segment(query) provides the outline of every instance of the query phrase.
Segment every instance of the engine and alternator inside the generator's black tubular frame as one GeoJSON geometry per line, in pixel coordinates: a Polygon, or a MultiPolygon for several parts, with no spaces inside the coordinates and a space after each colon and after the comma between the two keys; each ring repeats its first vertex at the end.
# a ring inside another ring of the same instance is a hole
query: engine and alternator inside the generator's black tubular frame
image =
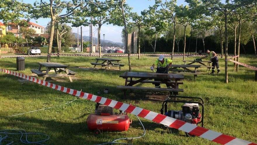
{"type": "Polygon", "coordinates": [[[185,103],[182,106],[182,110],[169,110],[165,115],[195,125],[201,121],[202,117],[199,113],[199,104],[197,103],[185,103]]]}

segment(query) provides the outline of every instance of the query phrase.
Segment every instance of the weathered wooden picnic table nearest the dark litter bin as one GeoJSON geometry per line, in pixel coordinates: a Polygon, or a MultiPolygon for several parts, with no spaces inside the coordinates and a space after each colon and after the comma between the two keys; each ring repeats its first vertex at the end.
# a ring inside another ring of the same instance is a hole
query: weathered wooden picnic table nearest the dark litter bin
{"type": "Polygon", "coordinates": [[[71,76],[74,76],[76,73],[68,70],[68,66],[56,62],[39,62],[38,69],[31,69],[32,73],[37,74],[38,76],[44,77],[43,81],[46,80],[47,77],[60,77],[66,76],[69,78],[70,82],[72,82],[71,76]],[[42,66],[46,67],[46,70],[41,70],[42,66]],[[54,70],[55,74],[48,74],[51,69],[54,70]],[[65,72],[65,74],[60,74],[60,72],[65,72]]]}

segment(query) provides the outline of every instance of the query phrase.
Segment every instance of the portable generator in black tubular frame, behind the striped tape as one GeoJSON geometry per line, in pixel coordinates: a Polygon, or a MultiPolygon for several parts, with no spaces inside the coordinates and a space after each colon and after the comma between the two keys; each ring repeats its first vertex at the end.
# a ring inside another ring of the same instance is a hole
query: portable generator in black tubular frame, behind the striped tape
{"type": "MultiPolygon", "coordinates": [[[[187,97],[187,96],[169,96],[168,100],[165,100],[162,103],[161,114],[166,115],[178,120],[185,121],[190,124],[198,125],[201,123],[201,126],[204,127],[204,101],[202,98],[198,97],[187,97]],[[177,100],[184,99],[184,100],[177,100]],[[185,100],[187,99],[187,100],[185,100]],[[189,101],[190,100],[201,100],[201,102],[189,101]],[[182,106],[182,110],[168,110],[167,103],[175,102],[175,103],[184,103],[182,106]],[[200,112],[200,107],[202,111],[200,112]]],[[[178,132],[178,129],[173,129],[173,132],[178,132]]],[[[192,134],[185,133],[188,137],[193,136],[192,134]]],[[[193,136],[194,137],[194,136],[193,136]]]]}

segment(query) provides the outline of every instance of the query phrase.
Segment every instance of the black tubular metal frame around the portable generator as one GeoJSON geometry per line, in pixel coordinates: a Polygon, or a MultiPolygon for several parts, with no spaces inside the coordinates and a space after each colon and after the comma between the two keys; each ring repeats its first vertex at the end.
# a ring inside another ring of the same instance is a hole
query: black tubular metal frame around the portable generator
{"type": "Polygon", "coordinates": [[[201,121],[198,122],[197,124],[202,124],[201,126],[204,127],[204,100],[199,97],[189,97],[189,96],[169,96],[168,98],[173,98],[174,100],[168,99],[163,101],[162,103],[162,109],[161,109],[161,114],[164,115],[166,112],[168,112],[168,102],[174,102],[174,103],[198,103],[199,105],[202,106],[202,118],[201,121]],[[186,99],[195,99],[195,100],[201,100],[202,103],[200,102],[195,102],[195,101],[186,101],[186,100],[176,100],[177,98],[186,98],[186,99]]]}

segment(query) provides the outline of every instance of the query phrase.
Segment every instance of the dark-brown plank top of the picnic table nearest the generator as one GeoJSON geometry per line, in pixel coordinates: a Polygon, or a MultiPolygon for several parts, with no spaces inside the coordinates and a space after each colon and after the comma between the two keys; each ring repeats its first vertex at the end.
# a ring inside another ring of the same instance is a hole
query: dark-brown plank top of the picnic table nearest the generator
{"type": "Polygon", "coordinates": [[[183,75],[180,74],[158,74],[158,73],[144,73],[144,72],[125,72],[120,75],[122,78],[149,78],[149,79],[169,79],[169,80],[182,80],[183,75]]]}

